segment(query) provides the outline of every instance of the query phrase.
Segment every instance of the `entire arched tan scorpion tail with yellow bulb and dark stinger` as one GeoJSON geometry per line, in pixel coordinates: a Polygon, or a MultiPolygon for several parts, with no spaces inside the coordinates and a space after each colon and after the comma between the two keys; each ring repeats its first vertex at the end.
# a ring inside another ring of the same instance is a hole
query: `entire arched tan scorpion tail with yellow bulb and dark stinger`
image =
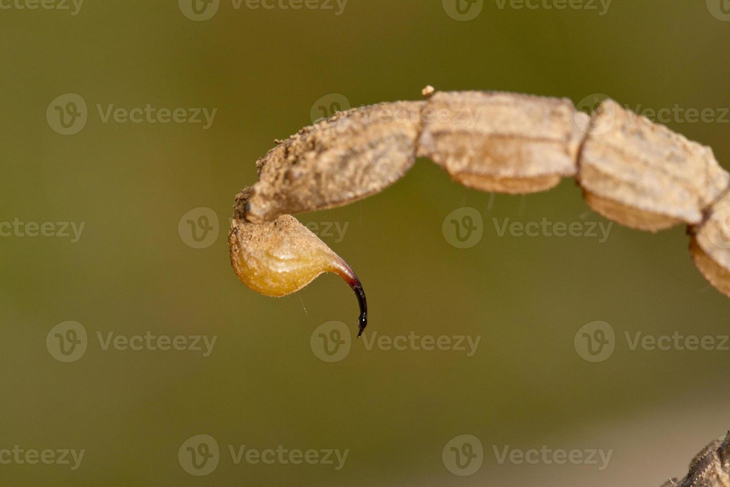
{"type": "Polygon", "coordinates": [[[237,197],[229,234],[244,283],[283,296],[337,272],[364,308],[352,269],[288,215],[371,196],[427,157],[480,191],[534,193],[575,177],[588,205],[613,221],[654,232],[684,223],[696,266],[730,296],[730,174],[710,147],[610,99],[588,115],[568,99],[431,87],[423,94],[426,101],[339,112],[277,141],[258,161],[259,180],[237,197]]]}

